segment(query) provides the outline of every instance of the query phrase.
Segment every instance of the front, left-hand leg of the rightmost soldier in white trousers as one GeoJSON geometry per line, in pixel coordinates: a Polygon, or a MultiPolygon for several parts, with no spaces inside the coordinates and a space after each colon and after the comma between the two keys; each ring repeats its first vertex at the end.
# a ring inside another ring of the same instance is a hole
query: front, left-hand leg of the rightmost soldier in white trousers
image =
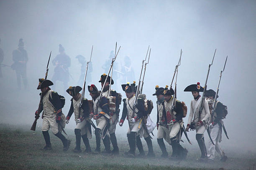
{"type": "MultiPolygon", "coordinates": [[[[218,137],[218,133],[219,133],[219,127],[217,127],[217,125],[213,126],[212,129],[210,129],[210,134],[212,137],[212,141],[216,144],[217,143],[217,137],[218,137]]],[[[208,140],[208,145],[207,145],[207,156],[209,159],[214,160],[215,158],[215,146],[213,145],[211,140],[208,140]]]]}

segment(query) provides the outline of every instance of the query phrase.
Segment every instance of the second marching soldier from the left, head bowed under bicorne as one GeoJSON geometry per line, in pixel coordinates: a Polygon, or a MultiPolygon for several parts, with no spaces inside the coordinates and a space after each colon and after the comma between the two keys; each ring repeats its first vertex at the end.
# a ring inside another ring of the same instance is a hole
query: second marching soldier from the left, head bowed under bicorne
{"type": "Polygon", "coordinates": [[[86,147],[86,150],[84,152],[90,153],[91,148],[90,148],[90,143],[89,139],[92,138],[92,129],[90,123],[87,121],[89,118],[89,105],[88,105],[88,100],[86,98],[83,99],[82,101],[82,108],[80,111],[79,115],[79,104],[81,100],[81,93],[79,93],[82,90],[82,87],[76,86],[72,87],[70,86],[66,91],[71,95],[73,98],[71,99],[71,106],[69,109],[69,113],[66,118],[66,123],[69,123],[69,119],[72,116],[74,112],[74,118],[76,121],[76,128],[74,129],[74,133],[76,135],[76,148],[74,148],[74,152],[80,153],[81,152],[81,136],[84,141],[84,145],[86,147]]]}

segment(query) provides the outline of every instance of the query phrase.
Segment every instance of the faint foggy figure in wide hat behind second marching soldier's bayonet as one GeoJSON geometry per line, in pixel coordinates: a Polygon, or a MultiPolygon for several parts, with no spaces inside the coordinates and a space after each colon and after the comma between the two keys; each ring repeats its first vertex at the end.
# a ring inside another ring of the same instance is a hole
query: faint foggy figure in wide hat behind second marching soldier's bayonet
{"type": "MultiPolygon", "coordinates": [[[[82,87],[82,85],[84,84],[84,76],[85,76],[87,61],[85,60],[85,57],[82,55],[77,55],[76,58],[78,62],[81,64],[81,75],[79,77],[77,84],[82,87]]],[[[88,85],[91,84],[92,82],[91,72],[92,72],[92,63],[90,62],[90,64],[88,65],[87,75],[86,75],[86,82],[88,85]]]]}

